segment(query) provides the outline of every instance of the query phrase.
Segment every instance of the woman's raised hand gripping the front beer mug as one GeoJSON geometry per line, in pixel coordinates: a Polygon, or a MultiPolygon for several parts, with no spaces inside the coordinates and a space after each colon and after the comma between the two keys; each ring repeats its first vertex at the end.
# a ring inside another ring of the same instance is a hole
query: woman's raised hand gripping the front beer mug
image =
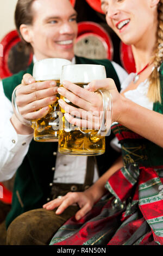
{"type": "Polygon", "coordinates": [[[65,109],[65,117],[69,123],[79,127],[99,129],[99,119],[103,111],[103,102],[101,95],[97,93],[98,89],[104,89],[110,92],[113,105],[112,122],[118,121],[123,97],[118,93],[114,80],[106,78],[104,80],[92,81],[85,88],[64,81],[63,86],[58,88],[58,93],[79,107],[70,106],[64,100],[59,100],[59,105],[65,109]],[[76,115],[76,117],[82,119],[74,118],[72,115],[76,115]]]}

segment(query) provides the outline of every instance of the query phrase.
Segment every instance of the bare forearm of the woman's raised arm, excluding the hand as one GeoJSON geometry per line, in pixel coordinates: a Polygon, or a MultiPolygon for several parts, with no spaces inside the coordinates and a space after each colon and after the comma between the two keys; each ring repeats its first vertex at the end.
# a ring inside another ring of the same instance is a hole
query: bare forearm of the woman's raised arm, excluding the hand
{"type": "Polygon", "coordinates": [[[163,148],[163,115],[122,99],[117,122],[163,148]]]}

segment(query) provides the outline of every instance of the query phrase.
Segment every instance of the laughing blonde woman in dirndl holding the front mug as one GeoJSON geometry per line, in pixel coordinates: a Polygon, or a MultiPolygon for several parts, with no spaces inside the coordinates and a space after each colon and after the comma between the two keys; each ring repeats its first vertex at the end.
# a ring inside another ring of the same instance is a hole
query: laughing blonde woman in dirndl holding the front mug
{"type": "MultiPolygon", "coordinates": [[[[91,111],[96,120],[93,112],[101,106],[97,106],[99,96],[93,92],[109,90],[112,121],[117,122],[112,131],[121,144],[122,157],[85,192],[69,193],[43,206],[51,210],[59,206],[57,214],[74,203],[80,207],[55,234],[51,245],[163,245],[163,65],[159,48],[163,42],[163,1],[102,0],[102,9],[108,25],[131,45],[137,73],[124,81],[121,95],[109,79],[93,81],[87,93],[65,81],[58,92],[78,102],[80,112],[91,111]]],[[[60,106],[65,108],[66,103],[60,100],[60,106]]],[[[70,114],[74,110],[71,108],[70,114]]],[[[70,114],[66,118],[73,124],[91,122],[70,114]]]]}

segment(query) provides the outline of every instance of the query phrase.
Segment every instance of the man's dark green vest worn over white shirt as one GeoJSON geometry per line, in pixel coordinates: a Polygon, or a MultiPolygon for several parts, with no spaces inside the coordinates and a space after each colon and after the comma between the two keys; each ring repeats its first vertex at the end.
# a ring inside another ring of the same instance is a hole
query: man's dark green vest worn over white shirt
{"type": "MultiPolygon", "coordinates": [[[[107,59],[93,60],[76,57],[77,64],[104,65],[107,77],[114,79],[120,91],[120,81],[111,62],[107,59]]],[[[21,83],[24,74],[33,72],[33,63],[26,71],[3,80],[4,93],[11,101],[12,92],[21,83]]],[[[110,147],[113,135],[106,137],[106,152],[97,156],[99,175],[102,175],[116,160],[119,155],[110,147]]],[[[12,197],[12,208],[6,220],[7,227],[14,218],[28,210],[42,208],[42,205],[50,198],[51,184],[54,177],[54,168],[58,143],[38,143],[34,140],[30,143],[28,154],[24,157],[21,166],[17,169],[15,185],[12,197]]]]}

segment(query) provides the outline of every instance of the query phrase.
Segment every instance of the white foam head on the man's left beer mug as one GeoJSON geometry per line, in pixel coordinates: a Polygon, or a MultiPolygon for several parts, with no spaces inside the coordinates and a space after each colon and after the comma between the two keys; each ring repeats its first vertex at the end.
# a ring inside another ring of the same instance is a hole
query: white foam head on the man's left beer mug
{"type": "Polygon", "coordinates": [[[41,59],[34,64],[35,81],[60,80],[62,66],[71,65],[70,60],[59,58],[41,59]]]}

